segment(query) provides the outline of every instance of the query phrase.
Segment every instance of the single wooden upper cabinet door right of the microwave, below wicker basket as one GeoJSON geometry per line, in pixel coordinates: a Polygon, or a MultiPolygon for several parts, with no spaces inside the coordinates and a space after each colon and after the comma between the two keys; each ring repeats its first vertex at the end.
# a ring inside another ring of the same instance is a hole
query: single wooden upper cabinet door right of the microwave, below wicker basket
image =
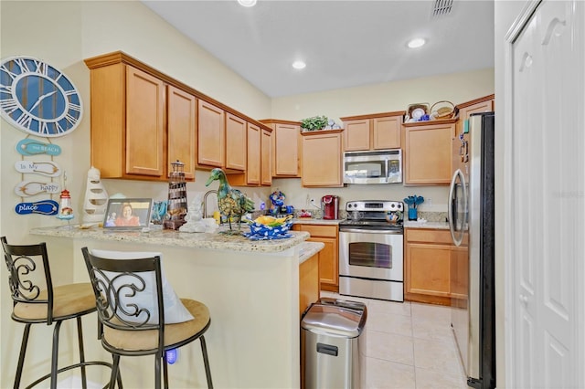
{"type": "Polygon", "coordinates": [[[405,184],[450,184],[454,124],[405,129],[405,184]]]}

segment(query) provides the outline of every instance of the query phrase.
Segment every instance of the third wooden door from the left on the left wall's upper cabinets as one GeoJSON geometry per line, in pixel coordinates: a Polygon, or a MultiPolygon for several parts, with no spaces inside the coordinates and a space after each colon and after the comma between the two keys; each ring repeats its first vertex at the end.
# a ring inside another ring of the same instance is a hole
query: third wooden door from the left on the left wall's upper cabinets
{"type": "Polygon", "coordinates": [[[197,163],[224,167],[225,113],[224,110],[199,100],[197,120],[197,163]]]}

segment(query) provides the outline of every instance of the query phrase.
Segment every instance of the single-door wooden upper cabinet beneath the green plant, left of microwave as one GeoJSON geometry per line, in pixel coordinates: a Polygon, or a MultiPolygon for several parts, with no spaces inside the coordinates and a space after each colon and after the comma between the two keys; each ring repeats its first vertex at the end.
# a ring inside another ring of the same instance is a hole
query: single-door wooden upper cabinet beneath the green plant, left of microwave
{"type": "Polygon", "coordinates": [[[301,132],[303,186],[343,186],[343,130],[301,132]]]}

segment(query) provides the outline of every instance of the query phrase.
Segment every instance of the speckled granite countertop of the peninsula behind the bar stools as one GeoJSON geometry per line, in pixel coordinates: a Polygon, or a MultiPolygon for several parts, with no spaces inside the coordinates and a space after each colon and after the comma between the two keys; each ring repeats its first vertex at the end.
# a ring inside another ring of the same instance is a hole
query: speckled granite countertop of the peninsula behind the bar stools
{"type": "MultiPolygon", "coordinates": [[[[242,228],[243,229],[243,228],[242,228]]],[[[174,230],[104,231],[101,227],[80,228],[80,226],[39,227],[30,234],[45,237],[69,237],[106,241],[148,243],[163,246],[210,248],[231,251],[278,252],[303,243],[308,232],[290,231],[292,237],[272,240],[250,240],[247,237],[220,233],[186,233],[174,230]]],[[[317,250],[318,251],[318,250],[317,250]]]]}

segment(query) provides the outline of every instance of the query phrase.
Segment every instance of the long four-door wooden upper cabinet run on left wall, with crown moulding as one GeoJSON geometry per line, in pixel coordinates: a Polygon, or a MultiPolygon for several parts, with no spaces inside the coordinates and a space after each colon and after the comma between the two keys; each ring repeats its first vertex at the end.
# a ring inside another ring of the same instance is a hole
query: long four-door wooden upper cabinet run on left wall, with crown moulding
{"type": "Polygon", "coordinates": [[[102,178],[166,181],[170,163],[195,169],[247,166],[248,125],[263,125],[122,51],[90,68],[91,164],[102,178]]]}

